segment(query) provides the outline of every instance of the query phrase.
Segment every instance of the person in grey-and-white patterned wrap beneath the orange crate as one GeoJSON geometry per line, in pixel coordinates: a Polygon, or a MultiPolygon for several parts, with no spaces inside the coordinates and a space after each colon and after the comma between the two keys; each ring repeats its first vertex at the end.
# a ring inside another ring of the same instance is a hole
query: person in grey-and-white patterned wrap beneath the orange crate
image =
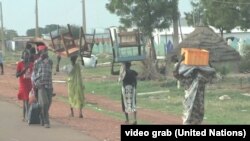
{"type": "Polygon", "coordinates": [[[185,89],[183,124],[197,125],[201,124],[204,118],[205,87],[215,75],[215,69],[209,65],[185,65],[181,63],[184,59],[185,54],[176,63],[173,75],[185,89]]]}

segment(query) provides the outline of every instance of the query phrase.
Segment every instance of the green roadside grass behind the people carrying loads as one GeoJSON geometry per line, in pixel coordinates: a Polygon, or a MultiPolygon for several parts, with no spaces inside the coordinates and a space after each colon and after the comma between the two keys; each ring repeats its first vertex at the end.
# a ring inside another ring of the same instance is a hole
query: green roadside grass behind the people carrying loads
{"type": "MultiPolygon", "coordinates": [[[[109,77],[109,75],[107,75],[109,77]]],[[[182,116],[184,98],[183,88],[177,89],[176,81],[138,81],[137,106],[173,115],[182,116]],[[159,93],[150,94],[149,92],[159,93]],[[162,91],[162,92],[161,92],[162,91]],[[140,93],[149,93],[139,95],[140,93]]],[[[120,86],[114,79],[86,82],[86,92],[109,97],[120,101],[120,86]]],[[[250,96],[242,95],[250,91],[249,81],[243,88],[239,78],[227,78],[223,81],[208,84],[205,93],[206,124],[250,124],[250,96]],[[220,100],[223,95],[230,99],[220,100]]]]}

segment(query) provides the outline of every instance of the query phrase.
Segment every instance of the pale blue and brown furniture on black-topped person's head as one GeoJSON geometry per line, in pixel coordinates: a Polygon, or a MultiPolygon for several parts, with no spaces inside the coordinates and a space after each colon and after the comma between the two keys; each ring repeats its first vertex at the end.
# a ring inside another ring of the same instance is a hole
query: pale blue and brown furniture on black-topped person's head
{"type": "Polygon", "coordinates": [[[146,58],[145,44],[138,30],[116,32],[110,29],[113,62],[143,61],[146,58]]]}

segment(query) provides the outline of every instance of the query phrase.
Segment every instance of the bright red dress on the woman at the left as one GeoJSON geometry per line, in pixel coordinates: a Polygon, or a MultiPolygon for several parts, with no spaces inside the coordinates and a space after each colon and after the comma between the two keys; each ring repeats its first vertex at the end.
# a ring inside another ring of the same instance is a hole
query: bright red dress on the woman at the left
{"type": "MultiPolygon", "coordinates": [[[[25,69],[25,64],[23,61],[20,61],[17,63],[17,72],[21,72],[25,69]]],[[[28,100],[29,99],[29,92],[32,89],[32,83],[31,83],[31,74],[33,71],[33,63],[29,64],[29,68],[26,70],[26,72],[19,76],[19,90],[17,97],[19,100],[28,100]]]]}

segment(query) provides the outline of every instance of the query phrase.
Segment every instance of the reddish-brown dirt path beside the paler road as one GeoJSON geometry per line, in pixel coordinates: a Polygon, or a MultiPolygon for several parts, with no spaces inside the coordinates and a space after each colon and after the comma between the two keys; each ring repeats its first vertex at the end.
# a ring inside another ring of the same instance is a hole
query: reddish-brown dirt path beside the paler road
{"type": "MultiPolygon", "coordinates": [[[[15,77],[15,67],[15,64],[5,66],[5,74],[0,75],[0,96],[6,101],[14,102],[21,106],[21,102],[17,101],[16,97],[18,80],[15,77]]],[[[63,84],[54,83],[54,91],[57,96],[67,96],[67,88],[63,84]]],[[[106,97],[86,94],[86,100],[88,103],[95,103],[100,107],[105,107],[105,109],[109,111],[121,112],[120,102],[112,101],[106,97]]],[[[122,120],[112,118],[101,112],[91,110],[90,108],[86,108],[83,111],[83,119],[77,117],[78,111],[75,111],[76,117],[69,117],[69,106],[56,97],[53,99],[50,116],[56,121],[79,129],[84,134],[95,137],[101,141],[120,141],[120,125],[123,124],[122,120]]],[[[181,117],[142,108],[138,108],[138,119],[149,121],[152,124],[181,123],[181,117]]],[[[53,130],[53,123],[51,123],[51,126],[53,130]]]]}

